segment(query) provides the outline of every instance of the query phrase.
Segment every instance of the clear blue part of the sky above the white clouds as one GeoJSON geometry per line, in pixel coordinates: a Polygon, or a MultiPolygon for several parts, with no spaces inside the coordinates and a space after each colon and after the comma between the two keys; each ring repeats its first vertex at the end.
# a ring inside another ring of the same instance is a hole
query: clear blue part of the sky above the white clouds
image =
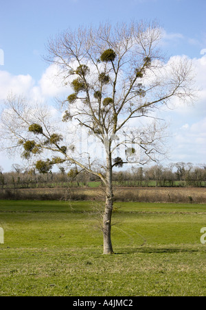
{"type": "MultiPolygon", "coordinates": [[[[157,19],[172,34],[185,40],[168,47],[172,54],[196,57],[206,47],[205,0],[7,0],[0,4],[0,48],[3,69],[13,74],[40,78],[46,64],[41,59],[45,43],[67,27],[108,19],[112,23],[131,19],[157,19]],[[188,43],[194,40],[194,44],[188,43]],[[196,44],[195,44],[196,43],[196,44]]],[[[177,38],[178,39],[178,38],[177,38]]]]}

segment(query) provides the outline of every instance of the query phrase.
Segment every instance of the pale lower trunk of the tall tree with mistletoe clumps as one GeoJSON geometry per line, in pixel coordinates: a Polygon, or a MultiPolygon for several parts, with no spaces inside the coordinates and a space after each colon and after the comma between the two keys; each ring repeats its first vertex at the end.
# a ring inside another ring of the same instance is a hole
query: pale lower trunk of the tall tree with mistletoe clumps
{"type": "Polygon", "coordinates": [[[111,217],[113,213],[113,168],[111,154],[106,160],[106,204],[103,217],[104,254],[113,254],[111,217]]]}

